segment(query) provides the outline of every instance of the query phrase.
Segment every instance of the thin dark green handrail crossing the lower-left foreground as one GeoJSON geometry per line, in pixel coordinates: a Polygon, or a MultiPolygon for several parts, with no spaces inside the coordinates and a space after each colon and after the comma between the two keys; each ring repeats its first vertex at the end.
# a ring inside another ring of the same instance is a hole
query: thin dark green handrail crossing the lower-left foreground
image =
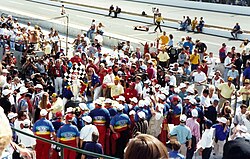
{"type": "Polygon", "coordinates": [[[46,142],[46,143],[50,143],[50,144],[53,144],[53,145],[56,145],[56,146],[61,147],[61,159],[63,159],[63,157],[64,157],[64,156],[63,156],[63,149],[64,149],[64,148],[67,148],[67,149],[76,151],[76,152],[81,153],[81,154],[85,154],[85,155],[89,155],[89,156],[94,156],[94,157],[98,157],[98,158],[104,158],[104,159],[117,159],[117,158],[115,158],[115,157],[111,157],[111,156],[107,156],[107,155],[102,155],[102,154],[98,154],[98,153],[94,153],[94,152],[90,152],[90,151],[78,149],[78,148],[75,148],[75,147],[72,147],[72,146],[68,146],[68,145],[65,145],[65,144],[61,144],[61,143],[58,143],[58,142],[55,142],[55,141],[51,141],[51,140],[42,138],[42,137],[39,137],[39,136],[31,135],[31,134],[28,134],[28,133],[23,132],[23,131],[21,131],[21,130],[15,129],[15,128],[11,128],[11,129],[12,129],[13,131],[16,131],[16,132],[18,132],[18,133],[21,133],[21,134],[23,134],[23,135],[26,135],[26,136],[29,136],[29,137],[32,137],[32,138],[35,138],[35,139],[44,141],[44,142],[46,142]]]}

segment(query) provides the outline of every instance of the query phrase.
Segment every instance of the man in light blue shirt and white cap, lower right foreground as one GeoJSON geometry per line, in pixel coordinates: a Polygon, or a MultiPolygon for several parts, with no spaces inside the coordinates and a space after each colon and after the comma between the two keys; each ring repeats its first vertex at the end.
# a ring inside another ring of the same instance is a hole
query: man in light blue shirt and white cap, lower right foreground
{"type": "Polygon", "coordinates": [[[186,156],[187,154],[187,149],[191,149],[191,145],[192,145],[192,133],[189,127],[187,127],[185,125],[187,120],[187,116],[182,114],[180,117],[180,124],[176,127],[174,127],[174,129],[170,132],[171,136],[175,136],[177,135],[177,140],[180,142],[181,144],[181,148],[180,148],[180,153],[183,156],[186,156]],[[186,146],[186,142],[188,142],[187,146],[186,146]]]}

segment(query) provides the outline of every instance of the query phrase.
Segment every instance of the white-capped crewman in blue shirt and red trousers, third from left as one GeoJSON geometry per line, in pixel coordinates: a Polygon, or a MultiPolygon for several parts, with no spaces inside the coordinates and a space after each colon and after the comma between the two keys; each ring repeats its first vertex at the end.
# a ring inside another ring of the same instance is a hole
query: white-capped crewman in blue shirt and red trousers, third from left
{"type": "Polygon", "coordinates": [[[110,114],[106,108],[102,107],[102,101],[97,99],[94,101],[95,109],[91,110],[89,116],[93,119],[93,124],[97,127],[100,138],[99,143],[105,150],[105,136],[107,127],[110,123],[110,114]]]}

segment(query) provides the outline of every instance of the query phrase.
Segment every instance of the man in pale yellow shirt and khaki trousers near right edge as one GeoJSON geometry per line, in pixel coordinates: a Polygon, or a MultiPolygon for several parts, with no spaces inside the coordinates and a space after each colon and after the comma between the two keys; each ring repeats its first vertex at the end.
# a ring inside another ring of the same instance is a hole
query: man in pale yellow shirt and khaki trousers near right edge
{"type": "Polygon", "coordinates": [[[222,104],[228,100],[231,103],[231,97],[235,92],[235,86],[232,83],[233,78],[229,77],[228,82],[222,83],[218,86],[218,95],[220,98],[219,105],[218,105],[218,112],[220,112],[220,108],[222,104]]]}

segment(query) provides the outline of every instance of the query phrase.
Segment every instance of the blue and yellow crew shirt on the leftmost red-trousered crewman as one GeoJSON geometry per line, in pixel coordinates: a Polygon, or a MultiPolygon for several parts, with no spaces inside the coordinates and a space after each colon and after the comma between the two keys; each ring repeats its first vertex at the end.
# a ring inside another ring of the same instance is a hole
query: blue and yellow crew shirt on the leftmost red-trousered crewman
{"type": "Polygon", "coordinates": [[[41,118],[35,122],[32,131],[36,135],[50,135],[50,133],[55,132],[55,129],[51,121],[41,118]]]}

